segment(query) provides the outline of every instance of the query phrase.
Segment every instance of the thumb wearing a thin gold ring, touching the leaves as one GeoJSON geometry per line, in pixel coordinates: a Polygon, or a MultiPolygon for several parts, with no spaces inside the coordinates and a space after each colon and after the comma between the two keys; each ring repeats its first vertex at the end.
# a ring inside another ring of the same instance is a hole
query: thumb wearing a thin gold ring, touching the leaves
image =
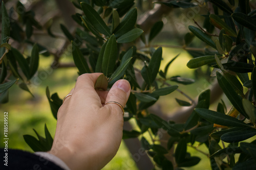
{"type": "MultiPolygon", "coordinates": [[[[117,102],[119,103],[123,108],[126,105],[126,102],[129,98],[131,92],[131,86],[130,83],[127,80],[118,80],[110,89],[108,95],[106,96],[105,104],[108,102],[117,102]]],[[[106,107],[113,107],[115,110],[121,110],[121,108],[114,103],[111,103],[109,105],[105,105],[106,107]]]]}

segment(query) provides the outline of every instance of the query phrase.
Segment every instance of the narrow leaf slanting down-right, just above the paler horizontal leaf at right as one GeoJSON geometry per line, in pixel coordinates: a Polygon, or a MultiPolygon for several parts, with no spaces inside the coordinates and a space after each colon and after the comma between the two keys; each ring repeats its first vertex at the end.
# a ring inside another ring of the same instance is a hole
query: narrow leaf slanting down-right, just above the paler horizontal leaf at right
{"type": "Polygon", "coordinates": [[[204,41],[205,43],[207,43],[208,45],[210,45],[211,47],[216,48],[216,45],[214,43],[214,41],[211,40],[210,36],[205,34],[203,31],[201,31],[200,29],[194,27],[194,26],[188,26],[188,29],[195,35],[197,36],[199,39],[201,39],[202,41],[204,41]]]}

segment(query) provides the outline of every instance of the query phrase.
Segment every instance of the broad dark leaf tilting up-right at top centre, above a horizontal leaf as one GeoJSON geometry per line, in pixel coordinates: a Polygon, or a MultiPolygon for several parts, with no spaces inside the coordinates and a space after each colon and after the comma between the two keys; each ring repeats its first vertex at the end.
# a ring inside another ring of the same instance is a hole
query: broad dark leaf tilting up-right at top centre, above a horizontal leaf
{"type": "MultiPolygon", "coordinates": [[[[119,14],[120,15],[120,14],[119,14]]],[[[124,16],[123,20],[120,22],[118,27],[115,29],[114,34],[116,37],[120,37],[121,35],[127,33],[132,30],[137,21],[137,9],[134,8],[127,12],[124,16]]]]}

